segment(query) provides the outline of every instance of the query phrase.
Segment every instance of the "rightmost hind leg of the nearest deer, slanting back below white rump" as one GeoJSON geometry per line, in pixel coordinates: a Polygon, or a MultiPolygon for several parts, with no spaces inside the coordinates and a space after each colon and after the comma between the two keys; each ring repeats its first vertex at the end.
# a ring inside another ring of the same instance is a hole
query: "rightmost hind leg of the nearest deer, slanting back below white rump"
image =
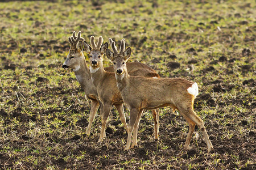
{"type": "MultiPolygon", "coordinates": [[[[178,108],[179,109],[179,108],[178,108]]],[[[210,142],[210,139],[208,137],[207,131],[205,130],[204,122],[201,120],[199,116],[196,115],[196,113],[193,111],[191,107],[187,109],[179,109],[181,113],[184,113],[185,116],[190,118],[195,124],[199,127],[201,132],[203,133],[204,140],[207,143],[207,150],[208,152],[213,148],[212,143],[210,142]]]]}

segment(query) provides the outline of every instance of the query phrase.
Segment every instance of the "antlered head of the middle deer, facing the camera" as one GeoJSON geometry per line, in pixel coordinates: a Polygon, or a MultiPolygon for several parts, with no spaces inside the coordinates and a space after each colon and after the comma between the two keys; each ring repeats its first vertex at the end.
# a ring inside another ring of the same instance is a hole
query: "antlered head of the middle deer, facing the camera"
{"type": "Polygon", "coordinates": [[[90,68],[92,67],[93,70],[103,66],[102,57],[104,56],[106,49],[108,49],[108,42],[105,42],[103,45],[102,43],[102,36],[98,37],[97,45],[95,44],[94,36],[90,37],[90,45],[84,41],[84,49],[89,54],[90,68]]]}

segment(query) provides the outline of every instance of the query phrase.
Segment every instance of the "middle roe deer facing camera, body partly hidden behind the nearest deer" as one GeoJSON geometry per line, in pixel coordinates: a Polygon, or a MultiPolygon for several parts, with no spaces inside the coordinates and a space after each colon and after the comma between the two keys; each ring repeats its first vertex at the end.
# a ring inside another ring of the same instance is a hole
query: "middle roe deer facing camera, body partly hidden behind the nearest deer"
{"type": "MultiPolygon", "coordinates": [[[[112,105],[118,109],[121,121],[128,132],[128,126],[126,124],[126,118],[123,114],[123,100],[122,96],[117,88],[117,83],[115,80],[115,74],[113,72],[108,72],[104,70],[103,67],[103,56],[105,54],[105,50],[108,49],[108,42],[103,44],[103,38],[100,36],[98,38],[97,46],[94,42],[94,36],[90,37],[91,46],[84,41],[84,49],[89,54],[90,57],[90,74],[92,76],[92,82],[96,87],[98,92],[98,101],[102,104],[103,113],[101,115],[101,135],[98,142],[101,142],[104,137],[104,131],[106,122],[109,117],[110,109],[112,105]],[[102,45],[102,46],[101,46],[102,45]]],[[[121,47],[122,48],[122,47],[121,47]]],[[[155,70],[150,67],[139,63],[134,62],[130,63],[131,68],[129,69],[129,74],[131,75],[140,75],[147,77],[155,77],[159,78],[159,75],[155,72],[155,70]],[[136,69],[137,68],[137,69],[136,69]],[[132,70],[132,71],[131,71],[132,70]]],[[[155,139],[158,139],[158,117],[159,117],[159,109],[157,111],[152,111],[154,115],[155,122],[155,139]]]]}

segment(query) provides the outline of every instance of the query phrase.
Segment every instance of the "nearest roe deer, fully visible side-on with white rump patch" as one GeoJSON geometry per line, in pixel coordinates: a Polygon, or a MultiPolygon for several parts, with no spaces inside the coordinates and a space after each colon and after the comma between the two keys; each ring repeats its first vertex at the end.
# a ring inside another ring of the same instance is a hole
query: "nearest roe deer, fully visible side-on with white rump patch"
{"type": "Polygon", "coordinates": [[[106,49],[106,56],[114,64],[114,73],[118,89],[121,91],[123,101],[130,109],[129,131],[125,150],[130,148],[131,134],[134,130],[133,145],[137,145],[138,125],[141,120],[143,109],[156,109],[170,106],[174,111],[177,109],[187,120],[189,125],[188,136],[184,147],[189,148],[195,125],[199,127],[207,143],[208,152],[213,148],[209,140],[204,122],[193,111],[195,97],[199,94],[197,83],[183,78],[145,78],[131,76],[127,73],[126,62],[131,55],[131,48],[125,50],[125,41],[121,41],[123,47],[118,53],[106,49]]]}

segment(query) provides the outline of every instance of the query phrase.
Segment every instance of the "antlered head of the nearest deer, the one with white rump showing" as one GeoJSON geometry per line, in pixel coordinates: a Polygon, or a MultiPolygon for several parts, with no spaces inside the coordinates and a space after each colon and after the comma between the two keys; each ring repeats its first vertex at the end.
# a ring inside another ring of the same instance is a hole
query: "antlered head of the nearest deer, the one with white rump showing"
{"type": "Polygon", "coordinates": [[[126,62],[131,56],[131,48],[128,47],[125,50],[125,39],[122,39],[121,41],[119,52],[117,51],[115,42],[112,39],[109,39],[109,44],[111,44],[113,52],[110,49],[106,49],[106,56],[113,63],[115,74],[122,75],[127,71],[126,62]]]}

